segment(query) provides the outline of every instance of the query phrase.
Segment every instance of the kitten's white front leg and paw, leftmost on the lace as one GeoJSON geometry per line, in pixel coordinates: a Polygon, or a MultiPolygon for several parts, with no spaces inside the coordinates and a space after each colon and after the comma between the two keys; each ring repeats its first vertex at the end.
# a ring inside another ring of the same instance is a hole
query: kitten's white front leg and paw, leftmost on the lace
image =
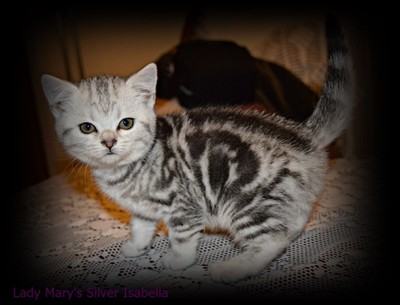
{"type": "Polygon", "coordinates": [[[147,252],[153,240],[157,223],[137,216],[131,219],[131,239],[122,246],[125,257],[136,257],[147,252]]]}

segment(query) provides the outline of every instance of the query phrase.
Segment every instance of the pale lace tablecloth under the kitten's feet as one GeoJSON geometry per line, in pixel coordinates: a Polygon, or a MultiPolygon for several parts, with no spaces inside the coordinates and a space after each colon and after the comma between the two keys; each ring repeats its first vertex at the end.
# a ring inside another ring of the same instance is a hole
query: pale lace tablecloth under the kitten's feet
{"type": "Polygon", "coordinates": [[[225,236],[205,235],[196,264],[184,271],[160,262],[169,249],[163,227],[150,252],[125,258],[120,249],[130,234],[129,214],[102,197],[85,170],[21,194],[26,213],[18,225],[26,237],[16,255],[24,257],[35,287],[162,289],[170,298],[350,292],[379,268],[372,259],[377,237],[369,213],[381,194],[372,183],[377,171],[372,161],[335,161],[303,234],[261,274],[232,284],[215,283],[208,275],[209,264],[240,253],[225,236]]]}

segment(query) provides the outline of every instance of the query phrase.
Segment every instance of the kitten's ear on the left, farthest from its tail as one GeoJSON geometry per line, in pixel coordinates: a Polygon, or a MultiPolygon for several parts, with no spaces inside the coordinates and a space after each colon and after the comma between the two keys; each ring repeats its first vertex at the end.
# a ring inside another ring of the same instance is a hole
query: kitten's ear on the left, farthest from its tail
{"type": "Polygon", "coordinates": [[[65,111],[65,103],[68,103],[78,92],[74,84],[48,74],[42,76],[42,87],[50,110],[56,118],[65,111]]]}

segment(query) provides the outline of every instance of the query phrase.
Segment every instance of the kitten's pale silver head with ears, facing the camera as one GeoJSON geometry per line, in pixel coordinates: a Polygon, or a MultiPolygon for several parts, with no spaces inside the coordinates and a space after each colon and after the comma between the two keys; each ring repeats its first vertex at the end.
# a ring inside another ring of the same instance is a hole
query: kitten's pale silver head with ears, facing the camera
{"type": "Polygon", "coordinates": [[[50,75],[42,86],[66,150],[93,167],[143,158],[151,148],[157,70],[149,64],[128,79],[100,76],[74,85],[50,75]]]}

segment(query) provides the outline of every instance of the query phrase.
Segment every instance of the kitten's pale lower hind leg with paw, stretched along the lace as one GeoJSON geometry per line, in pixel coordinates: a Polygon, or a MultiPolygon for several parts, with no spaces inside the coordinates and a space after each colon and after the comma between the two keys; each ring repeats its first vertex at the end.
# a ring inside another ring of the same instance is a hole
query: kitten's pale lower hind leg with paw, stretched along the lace
{"type": "Polygon", "coordinates": [[[278,257],[288,244],[287,237],[265,234],[257,243],[248,244],[244,253],[211,265],[210,276],[216,282],[229,283],[257,275],[278,257]]]}

